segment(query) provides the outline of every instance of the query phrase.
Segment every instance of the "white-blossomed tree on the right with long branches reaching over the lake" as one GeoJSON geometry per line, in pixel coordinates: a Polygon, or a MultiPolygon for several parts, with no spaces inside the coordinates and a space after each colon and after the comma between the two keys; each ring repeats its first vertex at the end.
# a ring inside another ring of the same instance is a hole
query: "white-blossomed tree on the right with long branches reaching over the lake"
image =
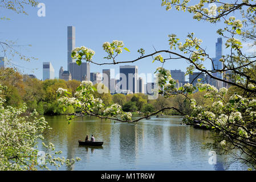
{"type": "MultiPolygon", "coordinates": [[[[95,52],[86,47],[75,48],[72,51],[72,57],[78,64],[85,60],[87,63],[96,65],[134,63],[146,57],[153,57],[153,62],[160,61],[163,63],[163,67],[156,69],[156,73],[159,76],[159,93],[165,97],[182,95],[190,102],[192,113],[185,115],[175,107],[165,107],[156,113],[149,113],[143,118],[157,114],[165,109],[177,110],[184,115],[186,123],[197,120],[201,122],[201,125],[215,129],[214,131],[219,134],[216,138],[216,144],[222,150],[230,151],[235,149],[234,156],[237,159],[241,159],[246,164],[256,168],[256,80],[254,69],[256,67],[256,56],[255,51],[246,53],[243,49],[243,42],[246,42],[250,48],[255,46],[256,43],[256,5],[254,0],[235,0],[230,2],[198,0],[197,2],[194,5],[190,0],[162,0],[162,6],[165,6],[166,10],[174,8],[177,11],[191,13],[193,18],[198,21],[205,20],[209,23],[223,21],[225,23],[225,27],[220,28],[217,34],[225,40],[226,49],[230,53],[221,57],[220,61],[223,64],[221,69],[214,65],[213,59],[201,46],[202,40],[196,38],[193,32],[188,34],[184,42],[181,42],[175,34],[169,35],[170,47],[168,50],[155,50],[155,52],[145,55],[145,50],[140,48],[137,51],[139,57],[135,60],[117,60],[117,56],[123,49],[129,51],[127,48],[123,48],[123,42],[118,40],[114,40],[112,43],[103,43],[103,49],[107,53],[104,58],[111,60],[106,63],[94,61],[95,52]],[[240,19],[230,16],[233,12],[239,14],[240,19]],[[168,53],[168,57],[165,55],[166,53],[168,53]],[[242,94],[233,93],[231,97],[227,97],[228,90],[226,88],[218,90],[212,85],[201,83],[200,79],[197,80],[196,86],[185,84],[180,88],[176,88],[176,81],[172,78],[170,72],[164,68],[164,63],[173,59],[184,59],[188,62],[187,75],[193,74],[195,70],[200,71],[212,78],[212,80],[224,82],[241,90],[242,94]],[[205,63],[209,61],[213,69],[205,68],[205,63]],[[229,74],[224,75],[227,72],[229,74]],[[216,73],[223,75],[223,78],[216,76],[216,73]],[[191,93],[197,90],[199,92],[205,91],[205,98],[212,100],[212,104],[208,106],[197,105],[196,100],[189,97],[191,93]]],[[[79,86],[76,98],[70,98],[67,90],[58,90],[58,93],[64,96],[60,99],[63,104],[74,104],[88,115],[125,122],[137,122],[143,119],[132,121],[131,114],[124,113],[119,105],[105,108],[100,100],[92,97],[92,92],[96,92],[96,88],[90,82],[83,82],[79,86]],[[95,112],[96,108],[97,112],[95,112]]]]}

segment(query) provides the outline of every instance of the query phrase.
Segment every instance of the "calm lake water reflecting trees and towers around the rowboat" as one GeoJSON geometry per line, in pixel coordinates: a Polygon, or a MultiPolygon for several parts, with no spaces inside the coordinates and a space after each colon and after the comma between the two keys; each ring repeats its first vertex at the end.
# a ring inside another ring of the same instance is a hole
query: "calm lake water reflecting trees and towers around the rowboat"
{"type": "MultiPolygon", "coordinates": [[[[79,157],[72,168],[60,170],[240,170],[239,163],[225,164],[217,155],[217,164],[209,164],[210,131],[180,125],[182,118],[151,118],[135,123],[78,118],[70,125],[65,116],[46,116],[52,130],[46,142],[55,144],[66,158],[79,157]],[[78,140],[94,135],[103,147],[79,146],[78,140]]],[[[54,168],[51,168],[54,169],[54,168]]]]}

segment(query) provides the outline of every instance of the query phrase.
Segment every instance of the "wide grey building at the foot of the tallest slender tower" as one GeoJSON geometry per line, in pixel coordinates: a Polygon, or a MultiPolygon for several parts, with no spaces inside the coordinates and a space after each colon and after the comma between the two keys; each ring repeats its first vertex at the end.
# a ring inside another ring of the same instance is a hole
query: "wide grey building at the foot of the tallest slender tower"
{"type": "Polygon", "coordinates": [[[76,63],[70,63],[70,73],[72,80],[83,81],[83,77],[85,77],[86,80],[91,80],[89,63],[82,63],[80,65],[76,63]]]}

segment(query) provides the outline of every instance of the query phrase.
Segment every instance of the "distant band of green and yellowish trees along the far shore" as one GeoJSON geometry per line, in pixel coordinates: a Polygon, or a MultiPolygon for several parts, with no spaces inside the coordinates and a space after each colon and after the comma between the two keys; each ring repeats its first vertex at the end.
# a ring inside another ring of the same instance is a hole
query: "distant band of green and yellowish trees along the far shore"
{"type": "MultiPolygon", "coordinates": [[[[0,70],[0,84],[8,87],[4,96],[6,105],[20,107],[25,102],[28,111],[36,109],[39,114],[59,115],[79,112],[77,108],[72,106],[64,111],[63,106],[59,105],[56,90],[58,88],[67,89],[74,96],[80,83],[76,80],[64,81],[58,79],[40,81],[36,78],[27,78],[23,81],[23,76],[14,68],[1,68],[0,70]]],[[[97,85],[95,86],[97,87],[97,85]]],[[[197,104],[200,105],[211,104],[212,101],[206,100],[204,94],[204,92],[197,92],[192,94],[192,98],[195,98],[197,104]]],[[[116,103],[121,105],[124,111],[129,112],[153,112],[164,107],[174,106],[183,113],[190,113],[189,101],[181,95],[172,98],[159,96],[156,100],[148,100],[148,96],[141,93],[128,94],[127,96],[115,94],[112,96],[110,93],[99,94],[95,92],[94,96],[101,98],[106,106],[116,103]]],[[[177,115],[179,113],[174,110],[165,110],[164,114],[177,115]]]]}

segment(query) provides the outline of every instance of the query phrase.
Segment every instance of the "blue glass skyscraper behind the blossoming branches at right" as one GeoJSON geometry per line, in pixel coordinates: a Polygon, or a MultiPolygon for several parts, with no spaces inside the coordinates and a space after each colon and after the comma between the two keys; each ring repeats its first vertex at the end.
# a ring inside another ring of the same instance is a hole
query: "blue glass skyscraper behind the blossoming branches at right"
{"type": "MultiPolygon", "coordinates": [[[[222,69],[223,68],[223,63],[220,61],[221,57],[222,57],[222,38],[218,38],[217,39],[217,43],[216,43],[216,55],[214,58],[212,58],[213,60],[213,65],[212,65],[212,70],[214,69],[222,69]]],[[[214,77],[217,78],[222,78],[222,75],[220,72],[214,72],[212,73],[212,75],[214,77]]],[[[213,80],[212,79],[212,83],[213,86],[215,86],[217,89],[220,89],[223,86],[223,82],[218,81],[218,80],[213,80]]]]}

